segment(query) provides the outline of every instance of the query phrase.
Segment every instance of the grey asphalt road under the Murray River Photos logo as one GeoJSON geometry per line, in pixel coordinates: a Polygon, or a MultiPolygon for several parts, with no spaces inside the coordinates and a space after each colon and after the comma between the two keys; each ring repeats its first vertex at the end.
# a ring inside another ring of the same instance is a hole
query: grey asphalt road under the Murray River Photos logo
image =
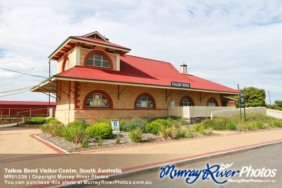
{"type": "MultiPolygon", "coordinates": [[[[163,187],[282,187],[282,144],[275,145],[273,147],[267,147],[257,150],[252,150],[246,153],[241,153],[237,155],[221,157],[216,159],[211,159],[208,161],[198,162],[190,165],[185,166],[176,166],[175,170],[205,170],[207,168],[207,164],[211,168],[213,165],[221,166],[223,164],[231,164],[229,168],[225,170],[220,170],[219,172],[228,172],[231,170],[233,171],[240,171],[241,176],[239,176],[239,172],[235,173],[233,177],[229,175],[228,177],[215,177],[215,180],[218,182],[224,182],[227,180],[226,183],[218,184],[211,178],[211,175],[203,180],[203,171],[199,175],[199,177],[195,180],[194,183],[188,184],[186,183],[186,177],[175,177],[171,179],[169,174],[164,176],[162,179],[159,178],[160,172],[145,174],[142,176],[135,176],[128,179],[119,180],[121,184],[104,184],[104,185],[97,185],[95,187],[154,187],[154,188],[163,188],[163,187]],[[250,168],[251,166],[251,168],[250,168]],[[277,171],[275,171],[275,169],[277,171]],[[245,172],[246,171],[246,172],[245,172]],[[249,172],[250,171],[250,172],[249,172]],[[249,175],[248,175],[249,172],[249,175]],[[253,175],[251,177],[251,173],[253,175]],[[262,172],[262,174],[260,174],[262,172]],[[275,175],[275,176],[274,176],[275,175]],[[257,176],[257,177],[255,177],[257,176]],[[262,176],[262,177],[261,177],[262,176]],[[268,176],[268,177],[264,177],[268,176]],[[273,176],[273,177],[271,177],[273,176]],[[229,181],[245,181],[245,182],[229,182],[229,181]],[[152,182],[152,184],[129,184],[134,183],[136,181],[148,181],[152,182]],[[274,181],[274,182],[261,182],[261,181],[274,181]],[[128,184],[127,184],[128,183],[128,184]]],[[[166,165],[164,165],[165,167],[166,165]]],[[[211,171],[216,170],[216,166],[210,169],[211,171]]],[[[195,177],[191,176],[189,182],[193,181],[195,177]]]]}

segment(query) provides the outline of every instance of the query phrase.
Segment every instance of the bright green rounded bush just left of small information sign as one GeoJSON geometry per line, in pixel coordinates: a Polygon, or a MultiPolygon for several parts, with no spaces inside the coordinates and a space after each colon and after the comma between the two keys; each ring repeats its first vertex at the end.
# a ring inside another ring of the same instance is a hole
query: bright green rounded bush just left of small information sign
{"type": "Polygon", "coordinates": [[[92,138],[111,138],[113,136],[112,127],[107,123],[95,123],[86,129],[87,135],[92,138]]]}

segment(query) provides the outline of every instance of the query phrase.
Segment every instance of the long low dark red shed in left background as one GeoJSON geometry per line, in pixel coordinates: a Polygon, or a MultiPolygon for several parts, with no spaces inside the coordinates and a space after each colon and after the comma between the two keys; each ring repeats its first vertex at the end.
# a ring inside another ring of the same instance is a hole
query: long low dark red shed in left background
{"type": "MultiPolygon", "coordinates": [[[[0,101],[0,113],[2,116],[17,115],[47,115],[49,102],[35,102],[35,101],[0,101]],[[38,110],[42,109],[42,110],[38,110]],[[28,112],[24,112],[28,111],[28,112]]],[[[56,107],[56,102],[50,102],[50,108],[56,107]]]]}

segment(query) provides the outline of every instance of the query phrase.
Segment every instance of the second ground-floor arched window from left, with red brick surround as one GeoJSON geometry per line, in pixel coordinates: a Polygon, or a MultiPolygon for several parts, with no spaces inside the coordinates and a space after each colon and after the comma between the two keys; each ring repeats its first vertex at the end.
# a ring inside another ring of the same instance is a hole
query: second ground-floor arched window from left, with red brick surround
{"type": "Polygon", "coordinates": [[[156,109],[156,102],[152,95],[148,93],[142,93],[137,96],[135,103],[135,109],[142,109],[142,108],[152,108],[156,109]]]}

